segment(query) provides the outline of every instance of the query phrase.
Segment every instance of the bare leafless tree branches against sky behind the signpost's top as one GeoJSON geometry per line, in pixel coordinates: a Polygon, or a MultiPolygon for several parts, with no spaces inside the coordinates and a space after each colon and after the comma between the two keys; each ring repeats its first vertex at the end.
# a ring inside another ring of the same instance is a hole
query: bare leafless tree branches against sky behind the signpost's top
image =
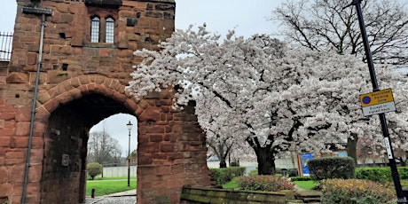
{"type": "MultiPolygon", "coordinates": [[[[272,12],[281,35],[314,51],[357,55],[365,51],[352,0],[288,1],[272,12]]],[[[376,63],[408,64],[407,5],[391,0],[361,1],[368,40],[376,63]]]]}

